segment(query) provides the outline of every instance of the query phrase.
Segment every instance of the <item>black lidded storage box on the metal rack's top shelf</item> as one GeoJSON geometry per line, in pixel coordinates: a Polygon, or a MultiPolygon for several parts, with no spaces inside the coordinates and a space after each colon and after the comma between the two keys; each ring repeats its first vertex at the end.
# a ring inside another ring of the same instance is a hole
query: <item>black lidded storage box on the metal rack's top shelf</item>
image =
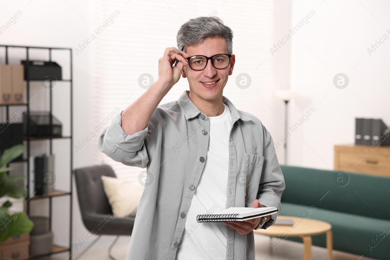
{"type": "Polygon", "coordinates": [[[62,80],[62,70],[56,62],[22,60],[25,80],[62,80]]]}

